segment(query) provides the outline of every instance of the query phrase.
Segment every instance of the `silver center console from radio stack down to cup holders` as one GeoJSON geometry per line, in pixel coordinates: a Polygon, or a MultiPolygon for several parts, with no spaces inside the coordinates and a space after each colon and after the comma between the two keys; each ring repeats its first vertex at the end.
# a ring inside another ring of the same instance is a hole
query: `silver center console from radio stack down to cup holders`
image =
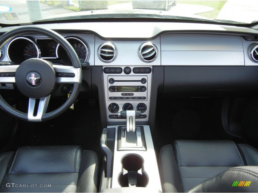
{"type": "Polygon", "coordinates": [[[100,192],[162,192],[148,124],[151,66],[103,68],[107,128],[100,192]]]}

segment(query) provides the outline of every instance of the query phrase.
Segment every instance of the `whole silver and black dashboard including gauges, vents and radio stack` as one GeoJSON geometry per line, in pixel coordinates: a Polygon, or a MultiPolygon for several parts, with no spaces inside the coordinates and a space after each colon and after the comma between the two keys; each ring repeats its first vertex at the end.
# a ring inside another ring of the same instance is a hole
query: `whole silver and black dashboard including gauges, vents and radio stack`
{"type": "MultiPolygon", "coordinates": [[[[150,121],[157,91],[170,96],[192,93],[193,97],[221,91],[254,91],[258,85],[255,29],[169,22],[38,26],[60,33],[75,49],[82,66],[92,69],[91,74],[84,71],[83,80],[90,87],[98,87],[105,107],[103,122],[124,121],[117,115],[121,110],[139,110],[142,115],[137,119],[150,121]],[[93,74],[97,67],[101,72],[93,74]],[[97,83],[95,76],[100,78],[97,83]]],[[[13,28],[2,28],[0,32],[13,28]]],[[[69,55],[56,41],[40,34],[16,37],[1,53],[2,65],[19,64],[34,57],[72,65],[69,55]]],[[[13,89],[13,85],[4,84],[0,89],[13,89]]]]}

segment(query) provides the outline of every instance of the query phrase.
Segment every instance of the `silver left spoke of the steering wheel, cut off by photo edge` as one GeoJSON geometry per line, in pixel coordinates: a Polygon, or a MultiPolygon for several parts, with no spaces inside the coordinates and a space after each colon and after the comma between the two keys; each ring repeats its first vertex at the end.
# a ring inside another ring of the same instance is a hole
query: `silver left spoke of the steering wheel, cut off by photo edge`
{"type": "Polygon", "coordinates": [[[15,72],[19,65],[0,66],[0,83],[15,83],[15,72]]]}

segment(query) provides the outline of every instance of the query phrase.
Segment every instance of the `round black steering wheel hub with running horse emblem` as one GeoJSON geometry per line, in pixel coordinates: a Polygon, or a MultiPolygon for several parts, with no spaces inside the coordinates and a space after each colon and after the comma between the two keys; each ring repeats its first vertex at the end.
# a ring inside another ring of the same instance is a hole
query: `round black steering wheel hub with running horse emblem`
{"type": "Polygon", "coordinates": [[[19,91],[33,99],[41,99],[53,92],[56,73],[53,64],[41,58],[30,58],[22,62],[15,73],[19,91]]]}

